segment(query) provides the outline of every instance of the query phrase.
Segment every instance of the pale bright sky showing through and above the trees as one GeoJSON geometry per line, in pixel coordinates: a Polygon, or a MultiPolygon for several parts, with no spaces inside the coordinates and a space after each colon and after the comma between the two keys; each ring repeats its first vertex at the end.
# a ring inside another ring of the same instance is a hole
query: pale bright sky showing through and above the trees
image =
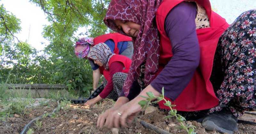
{"type": "MultiPolygon", "coordinates": [[[[256,0],[210,0],[217,13],[231,24],[236,17],[247,10],[256,9],[256,0]]],[[[0,0],[6,11],[12,12],[21,21],[21,32],[15,34],[20,41],[26,41],[37,50],[43,50],[49,42],[43,38],[44,25],[50,25],[44,11],[29,0],[0,0]],[[43,44],[41,42],[44,42],[43,44]]],[[[79,32],[85,28],[79,29],[79,32]]],[[[17,41],[16,41],[17,42],[17,41]]]]}

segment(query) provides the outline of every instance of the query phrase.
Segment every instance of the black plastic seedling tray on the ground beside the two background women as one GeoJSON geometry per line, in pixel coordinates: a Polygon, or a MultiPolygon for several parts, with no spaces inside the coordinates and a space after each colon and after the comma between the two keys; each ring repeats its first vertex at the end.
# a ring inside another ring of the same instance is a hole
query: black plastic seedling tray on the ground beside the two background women
{"type": "Polygon", "coordinates": [[[103,89],[104,89],[104,86],[102,84],[89,97],[79,97],[78,99],[67,99],[67,100],[70,100],[71,103],[82,104],[82,103],[85,103],[87,100],[91,100],[97,97],[102,92],[103,89]]]}

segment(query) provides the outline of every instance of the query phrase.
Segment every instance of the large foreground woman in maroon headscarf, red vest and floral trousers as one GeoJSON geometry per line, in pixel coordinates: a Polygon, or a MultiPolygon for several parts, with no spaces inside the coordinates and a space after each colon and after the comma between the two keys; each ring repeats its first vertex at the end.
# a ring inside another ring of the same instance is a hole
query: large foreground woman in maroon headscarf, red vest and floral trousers
{"type": "MultiPolygon", "coordinates": [[[[187,119],[237,131],[237,117],[256,110],[255,16],[244,12],[229,26],[209,0],[111,0],[104,22],[133,38],[134,54],[123,92],[97,125],[126,126],[141,110],[140,95],[164,87],[187,119]]],[[[163,101],[158,107],[168,110],[163,101]]]]}

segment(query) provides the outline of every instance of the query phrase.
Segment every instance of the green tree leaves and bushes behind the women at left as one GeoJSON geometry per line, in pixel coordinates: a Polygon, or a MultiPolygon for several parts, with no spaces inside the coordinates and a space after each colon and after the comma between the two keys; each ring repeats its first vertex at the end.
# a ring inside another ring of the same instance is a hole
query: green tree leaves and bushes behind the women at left
{"type": "MultiPolygon", "coordinates": [[[[30,0],[41,7],[50,25],[44,26],[43,37],[50,43],[37,51],[25,41],[13,43],[20,31],[20,19],[0,7],[0,83],[63,84],[89,96],[92,69],[74,53],[74,33],[78,28],[91,27],[81,36],[96,37],[108,32],[103,18],[110,0],[30,0]],[[9,75],[9,81],[7,77],[9,75]]],[[[17,38],[16,38],[17,39],[17,38]]]]}

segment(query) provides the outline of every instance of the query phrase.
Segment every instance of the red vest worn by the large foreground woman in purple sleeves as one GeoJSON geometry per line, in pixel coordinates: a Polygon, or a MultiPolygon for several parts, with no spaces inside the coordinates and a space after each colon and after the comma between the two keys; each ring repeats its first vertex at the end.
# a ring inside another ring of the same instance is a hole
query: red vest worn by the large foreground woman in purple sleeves
{"type": "MultiPolygon", "coordinates": [[[[156,23],[160,33],[161,42],[159,64],[167,64],[173,56],[170,40],[164,30],[164,20],[168,12],[183,1],[185,0],[164,0],[156,12],[156,23]]],[[[172,104],[176,105],[174,108],[179,111],[204,110],[212,108],[219,103],[209,79],[212,72],[213,58],[218,40],[220,35],[229,26],[225,19],[211,10],[209,0],[193,1],[205,8],[208,18],[210,19],[210,27],[196,30],[200,46],[200,63],[187,87],[175,101],[172,101],[172,104]]],[[[158,73],[161,72],[163,68],[164,66],[159,66],[158,73]]],[[[167,97],[165,98],[170,100],[167,97]]],[[[159,102],[159,107],[169,109],[164,106],[163,102],[164,101],[159,102]]]]}

